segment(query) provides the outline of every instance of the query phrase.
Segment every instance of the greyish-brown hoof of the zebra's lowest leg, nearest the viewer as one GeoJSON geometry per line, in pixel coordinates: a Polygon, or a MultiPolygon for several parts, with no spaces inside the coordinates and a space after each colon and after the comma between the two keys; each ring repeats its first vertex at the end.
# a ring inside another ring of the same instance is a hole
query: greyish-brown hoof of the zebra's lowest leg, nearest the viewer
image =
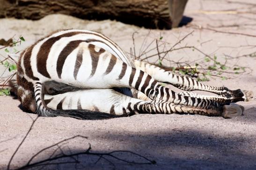
{"type": "Polygon", "coordinates": [[[235,116],[241,116],[242,115],[242,109],[240,106],[230,106],[230,105],[224,105],[223,106],[223,113],[222,116],[224,118],[232,118],[235,116]]]}

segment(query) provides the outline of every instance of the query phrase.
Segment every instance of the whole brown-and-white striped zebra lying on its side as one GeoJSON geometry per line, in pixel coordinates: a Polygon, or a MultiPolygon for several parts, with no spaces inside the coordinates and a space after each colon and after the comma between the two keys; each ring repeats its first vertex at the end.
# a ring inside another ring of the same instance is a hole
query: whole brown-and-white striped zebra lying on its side
{"type": "Polygon", "coordinates": [[[133,60],[116,43],[87,30],[62,30],[37,41],[20,55],[12,82],[22,106],[39,116],[104,119],[137,113],[241,116],[253,93],[212,87],[186,76],[133,60]],[[165,82],[186,91],[175,93],[165,82]]]}

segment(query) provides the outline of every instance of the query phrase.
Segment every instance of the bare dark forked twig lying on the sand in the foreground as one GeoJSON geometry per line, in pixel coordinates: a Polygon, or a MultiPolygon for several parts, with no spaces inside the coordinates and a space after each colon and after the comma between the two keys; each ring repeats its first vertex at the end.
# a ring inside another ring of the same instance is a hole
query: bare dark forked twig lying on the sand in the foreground
{"type": "MultiPolygon", "coordinates": [[[[7,165],[7,170],[10,170],[10,165],[13,161],[13,158],[14,156],[16,155],[16,153],[18,152],[18,150],[20,149],[20,147],[22,146],[22,144],[24,143],[25,139],[28,137],[29,133],[31,132],[35,122],[37,121],[38,119],[38,116],[36,119],[33,120],[28,132],[26,133],[26,135],[23,137],[22,139],[22,142],[19,143],[18,147],[15,149],[15,152],[13,153],[13,155],[11,156],[9,162],[8,162],[8,165],[7,165]]],[[[25,170],[25,169],[30,169],[30,168],[35,168],[35,167],[45,167],[45,166],[49,166],[49,165],[59,165],[59,164],[66,164],[66,163],[80,163],[78,157],[75,158],[74,156],[81,156],[81,155],[93,155],[93,156],[98,156],[99,159],[95,162],[99,162],[100,159],[104,159],[106,161],[108,161],[109,163],[111,163],[112,165],[114,165],[114,163],[112,163],[108,157],[111,157],[111,158],[114,158],[116,160],[119,160],[119,161],[122,161],[122,162],[125,162],[125,163],[132,163],[132,164],[155,164],[156,162],[154,160],[150,160],[148,158],[146,158],[145,156],[142,156],[142,155],[139,155],[137,153],[134,153],[132,151],[128,151],[128,150],[115,150],[115,151],[111,151],[111,152],[106,152],[106,153],[102,153],[102,152],[91,152],[91,145],[89,144],[89,147],[84,150],[84,151],[81,151],[81,152],[76,152],[76,153],[65,153],[64,150],[61,148],[61,146],[59,146],[60,144],[63,144],[65,142],[69,142],[71,141],[72,139],[75,139],[75,138],[82,138],[82,139],[88,139],[86,136],[80,136],[80,135],[77,135],[77,136],[73,136],[73,137],[70,137],[70,138],[67,138],[67,139],[64,139],[58,143],[55,143],[55,144],[52,144],[51,146],[48,146],[40,151],[38,151],[36,154],[34,154],[33,156],[31,156],[31,158],[28,160],[28,162],[19,167],[19,168],[16,168],[14,170],[25,170]],[[48,158],[45,158],[43,160],[40,160],[40,161],[36,161],[36,162],[33,162],[34,158],[36,156],[39,156],[39,154],[43,153],[44,151],[46,150],[50,150],[50,149],[53,149],[54,147],[57,147],[56,150],[54,150],[52,152],[52,154],[48,157],[48,158]],[[60,154],[57,154],[55,155],[55,153],[57,152],[57,150],[60,150],[60,154]],[[118,154],[118,153],[129,153],[129,154],[132,154],[133,156],[138,156],[139,158],[143,159],[144,162],[138,162],[138,161],[129,161],[127,159],[123,159],[123,158],[120,158],[118,156],[115,156],[115,154],[118,154]],[[73,161],[65,161],[65,162],[54,162],[52,163],[52,161],[58,161],[58,160],[63,160],[63,158],[71,158],[73,159],[73,161]],[[33,162],[33,163],[32,163],[33,162]]]]}

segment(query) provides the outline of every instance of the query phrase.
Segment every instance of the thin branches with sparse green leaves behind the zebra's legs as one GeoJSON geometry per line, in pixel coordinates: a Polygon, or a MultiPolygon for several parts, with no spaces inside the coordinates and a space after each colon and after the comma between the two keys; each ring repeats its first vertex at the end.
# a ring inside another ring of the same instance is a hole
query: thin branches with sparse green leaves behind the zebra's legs
{"type": "MultiPolygon", "coordinates": [[[[183,36],[183,38],[177,39],[176,43],[172,46],[170,46],[171,43],[163,41],[162,36],[160,36],[159,39],[153,39],[152,41],[149,41],[148,45],[146,46],[146,41],[149,39],[148,38],[149,33],[148,33],[144,38],[144,41],[139,49],[139,53],[135,52],[136,43],[135,43],[135,37],[133,34],[132,35],[133,48],[130,48],[130,51],[131,51],[130,55],[132,55],[132,58],[135,58],[136,60],[147,61],[147,62],[148,62],[148,59],[157,58],[155,62],[150,62],[150,64],[163,68],[166,71],[173,71],[173,72],[178,71],[177,72],[178,74],[195,77],[197,78],[198,81],[209,81],[210,77],[219,77],[222,80],[225,80],[229,78],[227,75],[231,75],[231,74],[237,75],[237,74],[246,72],[245,67],[241,67],[238,65],[229,66],[226,55],[225,55],[225,61],[223,62],[223,59],[217,60],[217,56],[215,54],[213,56],[210,54],[206,54],[202,50],[198,49],[196,46],[188,46],[186,44],[184,46],[176,47],[178,44],[181,44],[183,41],[185,41],[186,38],[188,38],[192,34],[193,34],[193,31],[183,36]],[[155,46],[153,43],[154,41],[156,42],[155,46]],[[170,47],[166,49],[167,46],[170,46],[170,47]],[[174,59],[174,60],[170,59],[169,54],[171,54],[174,51],[178,51],[182,49],[192,49],[192,51],[197,51],[198,53],[202,54],[203,57],[195,61],[186,61],[186,62],[180,62],[181,59],[179,59],[178,61],[177,59],[174,59]],[[136,54],[138,55],[136,56],[136,54]],[[170,65],[172,65],[172,67],[169,68],[164,66],[163,63],[165,63],[165,61],[168,61],[170,65]],[[222,75],[222,74],[225,74],[225,75],[222,75]]],[[[206,41],[203,43],[207,43],[207,42],[209,41],[206,41]]]]}

